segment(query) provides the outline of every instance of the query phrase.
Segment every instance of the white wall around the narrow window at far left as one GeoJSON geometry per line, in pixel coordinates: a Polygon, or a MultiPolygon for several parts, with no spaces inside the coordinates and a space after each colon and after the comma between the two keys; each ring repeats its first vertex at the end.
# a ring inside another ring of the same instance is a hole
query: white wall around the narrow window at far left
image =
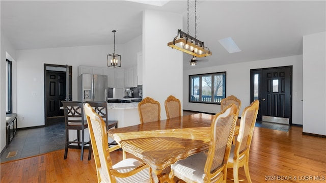
{"type": "MultiPolygon", "coordinates": [[[[2,32],[0,34],[0,148],[6,147],[6,58],[10,58],[13,62],[13,72],[16,70],[16,49],[10,43],[6,35],[2,32]]],[[[16,112],[16,77],[13,75],[13,112],[16,112]]]]}

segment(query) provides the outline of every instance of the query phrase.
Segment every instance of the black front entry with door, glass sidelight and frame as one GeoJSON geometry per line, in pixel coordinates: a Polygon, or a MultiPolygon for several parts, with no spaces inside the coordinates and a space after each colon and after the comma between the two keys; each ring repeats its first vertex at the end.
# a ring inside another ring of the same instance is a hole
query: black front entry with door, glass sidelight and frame
{"type": "Polygon", "coordinates": [[[257,120],[292,125],[292,66],[250,70],[250,100],[259,100],[257,120]]]}

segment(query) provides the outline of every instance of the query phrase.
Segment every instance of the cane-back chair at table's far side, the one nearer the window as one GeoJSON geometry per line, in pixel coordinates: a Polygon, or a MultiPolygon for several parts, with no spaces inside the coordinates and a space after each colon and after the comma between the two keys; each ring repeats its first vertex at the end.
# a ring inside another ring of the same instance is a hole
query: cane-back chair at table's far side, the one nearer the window
{"type": "Polygon", "coordinates": [[[181,116],[181,102],[179,99],[170,95],[164,102],[167,118],[181,116]]]}

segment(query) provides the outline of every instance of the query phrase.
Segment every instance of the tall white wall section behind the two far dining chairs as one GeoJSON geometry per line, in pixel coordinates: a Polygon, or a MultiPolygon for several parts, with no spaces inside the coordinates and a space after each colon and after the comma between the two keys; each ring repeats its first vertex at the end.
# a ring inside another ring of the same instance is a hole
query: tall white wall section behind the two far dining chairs
{"type": "Polygon", "coordinates": [[[167,118],[164,102],[169,95],[182,103],[182,52],[168,47],[181,27],[181,14],[143,12],[143,98],[160,103],[161,119],[167,118]]]}

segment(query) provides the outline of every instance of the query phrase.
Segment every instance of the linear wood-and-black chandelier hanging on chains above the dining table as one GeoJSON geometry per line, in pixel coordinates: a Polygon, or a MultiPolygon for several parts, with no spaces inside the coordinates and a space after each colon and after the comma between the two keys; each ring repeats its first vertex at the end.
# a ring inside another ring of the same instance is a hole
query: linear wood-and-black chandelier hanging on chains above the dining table
{"type": "Polygon", "coordinates": [[[168,46],[196,57],[209,56],[212,52],[204,46],[204,42],[197,39],[197,0],[195,1],[195,37],[189,35],[189,0],[187,5],[188,32],[184,33],[178,29],[178,35],[168,43],[168,46]]]}

